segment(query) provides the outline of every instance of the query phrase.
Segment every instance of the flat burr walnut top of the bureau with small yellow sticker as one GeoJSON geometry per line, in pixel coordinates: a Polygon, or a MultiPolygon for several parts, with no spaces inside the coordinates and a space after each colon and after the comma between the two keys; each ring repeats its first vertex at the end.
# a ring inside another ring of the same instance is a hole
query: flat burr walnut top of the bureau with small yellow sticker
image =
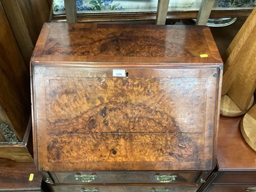
{"type": "Polygon", "coordinates": [[[216,65],[220,54],[206,26],[44,24],[35,63],[216,65]]]}

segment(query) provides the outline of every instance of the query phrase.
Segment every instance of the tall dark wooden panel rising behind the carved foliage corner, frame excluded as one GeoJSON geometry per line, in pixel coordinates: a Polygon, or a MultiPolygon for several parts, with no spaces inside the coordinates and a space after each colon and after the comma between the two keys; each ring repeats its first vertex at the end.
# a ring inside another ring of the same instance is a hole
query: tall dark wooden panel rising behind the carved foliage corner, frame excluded
{"type": "Polygon", "coordinates": [[[0,123],[8,124],[22,141],[30,116],[29,71],[1,2],[0,28],[0,123]]]}

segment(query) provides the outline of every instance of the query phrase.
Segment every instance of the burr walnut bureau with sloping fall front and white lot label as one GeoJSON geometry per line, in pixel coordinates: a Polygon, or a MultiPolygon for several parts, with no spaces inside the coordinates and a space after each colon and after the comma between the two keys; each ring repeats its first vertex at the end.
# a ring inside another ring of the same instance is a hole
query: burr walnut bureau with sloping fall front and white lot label
{"type": "Polygon", "coordinates": [[[216,162],[222,67],[205,26],[45,24],[38,170],[52,191],[196,191],[216,162]]]}

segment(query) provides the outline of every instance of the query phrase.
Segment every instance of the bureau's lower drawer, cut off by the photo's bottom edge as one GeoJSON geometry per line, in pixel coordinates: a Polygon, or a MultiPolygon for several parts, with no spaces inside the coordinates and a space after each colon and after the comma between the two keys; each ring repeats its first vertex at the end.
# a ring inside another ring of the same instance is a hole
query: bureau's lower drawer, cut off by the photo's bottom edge
{"type": "Polygon", "coordinates": [[[54,192],[193,192],[196,186],[52,186],[54,192]]]}

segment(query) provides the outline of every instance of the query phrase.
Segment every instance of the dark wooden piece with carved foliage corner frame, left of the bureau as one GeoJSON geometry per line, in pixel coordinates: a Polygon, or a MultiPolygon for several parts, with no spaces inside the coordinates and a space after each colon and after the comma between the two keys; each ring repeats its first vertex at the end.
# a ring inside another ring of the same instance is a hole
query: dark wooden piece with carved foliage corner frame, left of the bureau
{"type": "Polygon", "coordinates": [[[29,69],[22,59],[1,1],[0,28],[0,158],[33,162],[28,147],[31,131],[29,69]]]}

